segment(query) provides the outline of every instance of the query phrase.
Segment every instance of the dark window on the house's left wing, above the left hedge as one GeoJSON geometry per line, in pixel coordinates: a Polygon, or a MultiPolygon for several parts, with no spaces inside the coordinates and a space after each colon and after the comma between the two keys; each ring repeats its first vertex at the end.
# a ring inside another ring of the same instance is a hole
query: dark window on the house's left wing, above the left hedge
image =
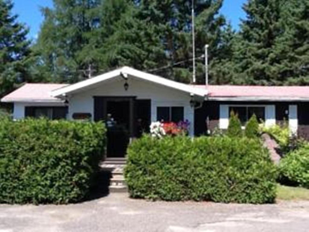
{"type": "Polygon", "coordinates": [[[49,118],[49,119],[61,119],[66,118],[68,108],[67,107],[25,107],[25,117],[33,118],[49,118]]]}

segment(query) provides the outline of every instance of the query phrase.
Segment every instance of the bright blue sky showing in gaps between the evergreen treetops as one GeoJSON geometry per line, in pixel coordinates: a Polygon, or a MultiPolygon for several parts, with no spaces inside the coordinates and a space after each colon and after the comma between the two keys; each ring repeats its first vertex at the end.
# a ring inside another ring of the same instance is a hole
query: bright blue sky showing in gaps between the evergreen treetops
{"type": "MultiPolygon", "coordinates": [[[[40,25],[43,21],[43,16],[40,12],[40,7],[52,7],[52,0],[13,0],[13,13],[18,14],[18,20],[27,24],[30,27],[28,35],[31,39],[36,39],[37,33],[40,30],[40,25]]],[[[221,13],[226,16],[234,29],[239,28],[239,19],[244,18],[245,14],[241,8],[246,0],[224,0],[221,13]]]]}

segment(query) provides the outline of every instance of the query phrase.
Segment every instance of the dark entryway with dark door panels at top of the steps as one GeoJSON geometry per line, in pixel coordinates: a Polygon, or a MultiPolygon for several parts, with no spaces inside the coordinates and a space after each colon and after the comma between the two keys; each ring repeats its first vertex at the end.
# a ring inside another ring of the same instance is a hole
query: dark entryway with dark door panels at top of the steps
{"type": "Polygon", "coordinates": [[[148,132],[150,100],[135,97],[94,97],[95,121],[107,126],[107,157],[125,157],[130,138],[148,132]]]}

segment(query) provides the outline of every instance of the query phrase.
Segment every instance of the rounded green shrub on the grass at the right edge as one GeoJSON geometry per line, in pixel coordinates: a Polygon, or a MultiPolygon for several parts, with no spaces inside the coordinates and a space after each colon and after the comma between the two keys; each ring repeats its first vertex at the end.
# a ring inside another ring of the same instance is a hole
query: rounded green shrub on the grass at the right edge
{"type": "Polygon", "coordinates": [[[283,157],[279,170],[281,183],[309,188],[309,145],[283,157]]]}

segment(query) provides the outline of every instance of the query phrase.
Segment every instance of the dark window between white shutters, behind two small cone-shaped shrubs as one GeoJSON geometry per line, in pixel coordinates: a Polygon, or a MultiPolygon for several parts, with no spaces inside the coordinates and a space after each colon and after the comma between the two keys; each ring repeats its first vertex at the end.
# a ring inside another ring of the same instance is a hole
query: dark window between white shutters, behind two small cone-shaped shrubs
{"type": "Polygon", "coordinates": [[[231,115],[232,111],[238,115],[238,118],[243,126],[252,117],[253,114],[256,115],[256,118],[260,123],[265,122],[264,106],[230,106],[229,115],[231,115]]]}

